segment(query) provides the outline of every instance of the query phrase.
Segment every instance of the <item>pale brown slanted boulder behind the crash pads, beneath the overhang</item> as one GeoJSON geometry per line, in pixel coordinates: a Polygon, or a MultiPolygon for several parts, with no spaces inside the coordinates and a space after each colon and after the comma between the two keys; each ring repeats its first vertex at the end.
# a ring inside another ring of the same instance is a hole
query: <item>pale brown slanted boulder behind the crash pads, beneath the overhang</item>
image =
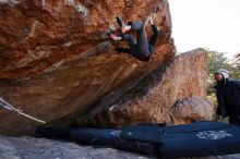
{"type": "MultiPolygon", "coordinates": [[[[177,100],[192,96],[206,97],[206,51],[203,49],[180,54],[139,83],[130,83],[105,97],[88,114],[80,117],[77,123],[104,127],[155,122],[175,124],[171,113],[177,100]]],[[[201,106],[193,101],[181,108],[192,113],[185,110],[181,115],[196,113],[192,121],[211,120],[213,106],[201,106]]],[[[175,108],[176,112],[177,108],[179,106],[175,108]]],[[[178,119],[178,114],[175,115],[178,119]]]]}

